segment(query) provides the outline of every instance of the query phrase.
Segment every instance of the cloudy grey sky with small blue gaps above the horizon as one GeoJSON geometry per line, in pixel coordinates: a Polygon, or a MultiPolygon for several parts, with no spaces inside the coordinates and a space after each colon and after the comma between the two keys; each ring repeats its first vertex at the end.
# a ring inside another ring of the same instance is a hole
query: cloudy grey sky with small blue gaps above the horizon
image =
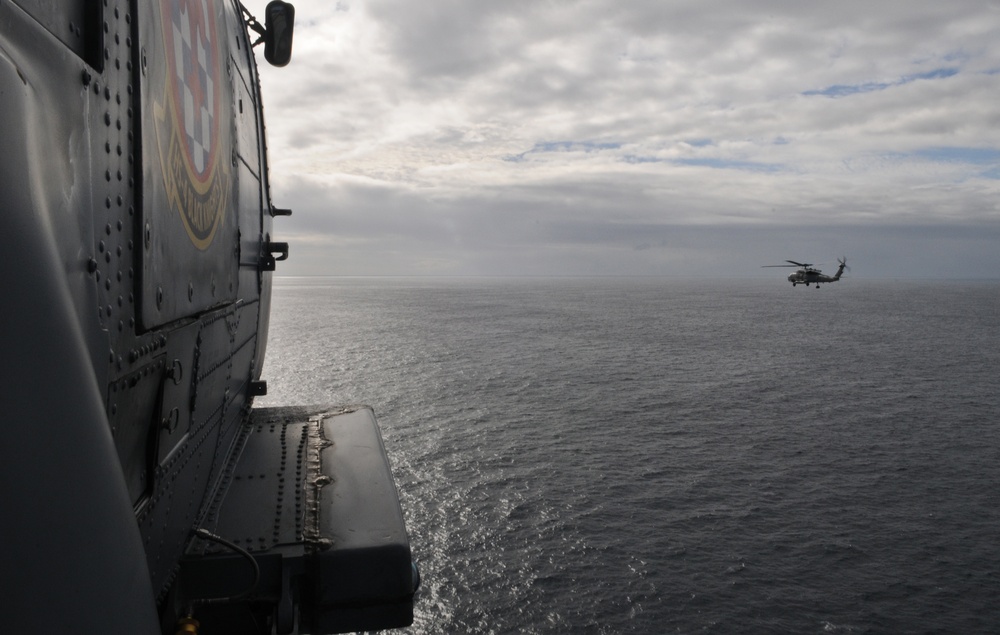
{"type": "Polygon", "coordinates": [[[294,4],[279,275],[1000,277],[995,0],[294,4]]]}

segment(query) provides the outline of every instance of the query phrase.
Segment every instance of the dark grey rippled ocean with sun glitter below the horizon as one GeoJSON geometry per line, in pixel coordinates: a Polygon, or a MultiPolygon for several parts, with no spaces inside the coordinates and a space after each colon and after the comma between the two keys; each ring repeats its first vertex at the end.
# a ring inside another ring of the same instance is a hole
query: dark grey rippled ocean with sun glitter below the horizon
{"type": "Polygon", "coordinates": [[[264,378],[375,408],[402,632],[1000,629],[1000,283],[285,278],[264,378]]]}

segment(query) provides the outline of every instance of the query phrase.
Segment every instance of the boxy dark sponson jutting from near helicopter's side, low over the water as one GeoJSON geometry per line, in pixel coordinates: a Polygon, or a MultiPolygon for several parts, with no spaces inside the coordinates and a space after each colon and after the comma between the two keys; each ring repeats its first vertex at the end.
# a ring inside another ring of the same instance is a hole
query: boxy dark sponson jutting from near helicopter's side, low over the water
{"type": "MultiPolygon", "coordinates": [[[[269,608],[255,615],[261,604],[278,607],[278,632],[296,622],[310,633],[409,625],[416,571],[371,409],[258,409],[244,435],[203,527],[252,554],[259,581],[245,604],[203,606],[206,630],[271,619],[269,608]]],[[[193,598],[236,594],[251,573],[231,547],[197,540],[179,586],[193,598]]]]}

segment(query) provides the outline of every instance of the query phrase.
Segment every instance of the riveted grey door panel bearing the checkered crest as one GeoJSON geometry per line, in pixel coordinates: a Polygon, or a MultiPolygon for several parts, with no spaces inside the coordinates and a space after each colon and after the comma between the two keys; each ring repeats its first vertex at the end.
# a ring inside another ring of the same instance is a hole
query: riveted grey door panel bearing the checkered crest
{"type": "Polygon", "coordinates": [[[238,293],[232,63],[224,3],[140,3],[145,329],[238,293]]]}

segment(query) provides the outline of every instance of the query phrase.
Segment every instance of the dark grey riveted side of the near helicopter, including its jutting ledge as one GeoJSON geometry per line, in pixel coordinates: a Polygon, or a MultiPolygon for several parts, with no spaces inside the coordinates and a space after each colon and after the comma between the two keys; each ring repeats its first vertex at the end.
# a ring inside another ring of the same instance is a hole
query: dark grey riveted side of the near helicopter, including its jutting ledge
{"type": "Polygon", "coordinates": [[[384,509],[386,544],[345,547],[327,505],[330,435],[380,444],[374,418],[254,419],[271,272],[287,256],[272,218],[287,211],[268,190],[247,20],[237,0],[0,1],[11,630],[173,633],[200,618],[211,632],[334,632],[412,619],[391,475],[369,505],[384,509]],[[265,484],[239,489],[255,477],[265,484]],[[273,527],[250,533],[268,512],[273,527]],[[349,578],[376,552],[394,567],[388,587],[335,588],[327,569],[349,578]]]}

